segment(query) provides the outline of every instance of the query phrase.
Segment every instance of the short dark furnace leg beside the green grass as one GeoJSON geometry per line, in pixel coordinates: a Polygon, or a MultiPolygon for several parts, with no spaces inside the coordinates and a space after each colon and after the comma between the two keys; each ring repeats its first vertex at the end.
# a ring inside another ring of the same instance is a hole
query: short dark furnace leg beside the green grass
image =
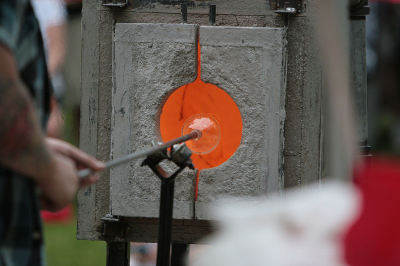
{"type": "Polygon", "coordinates": [[[129,266],[130,242],[107,242],[106,266],[129,266]]]}

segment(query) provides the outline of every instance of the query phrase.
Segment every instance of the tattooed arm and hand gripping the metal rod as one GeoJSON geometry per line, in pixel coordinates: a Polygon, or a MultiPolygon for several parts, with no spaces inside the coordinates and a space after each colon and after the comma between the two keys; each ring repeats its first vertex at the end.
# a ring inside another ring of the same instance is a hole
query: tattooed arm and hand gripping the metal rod
{"type": "MultiPolygon", "coordinates": [[[[13,55],[1,44],[0,58],[0,164],[32,178],[47,207],[60,209],[79,187],[77,167],[100,170],[103,166],[65,142],[45,141],[13,55]]],[[[84,185],[94,181],[92,177],[84,185]]]]}

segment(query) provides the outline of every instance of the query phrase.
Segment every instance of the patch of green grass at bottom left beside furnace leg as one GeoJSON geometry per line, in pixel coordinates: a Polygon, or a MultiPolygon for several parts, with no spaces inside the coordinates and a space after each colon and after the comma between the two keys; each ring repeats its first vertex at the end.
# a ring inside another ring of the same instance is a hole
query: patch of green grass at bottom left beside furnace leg
{"type": "Polygon", "coordinates": [[[43,227],[47,266],[105,266],[105,242],[76,239],[76,212],[70,223],[43,227]]]}

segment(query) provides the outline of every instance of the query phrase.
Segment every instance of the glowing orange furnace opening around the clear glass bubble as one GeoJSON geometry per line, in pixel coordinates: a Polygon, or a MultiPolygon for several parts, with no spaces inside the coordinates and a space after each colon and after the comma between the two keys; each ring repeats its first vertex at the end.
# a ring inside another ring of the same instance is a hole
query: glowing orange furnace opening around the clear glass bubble
{"type": "Polygon", "coordinates": [[[219,120],[220,140],[217,147],[209,153],[191,156],[194,166],[201,170],[222,164],[236,151],[240,144],[242,123],[232,98],[217,86],[201,81],[199,45],[197,49],[197,78],[169,95],[162,108],[159,128],[162,141],[168,141],[181,136],[182,125],[191,115],[208,114],[219,120]]]}

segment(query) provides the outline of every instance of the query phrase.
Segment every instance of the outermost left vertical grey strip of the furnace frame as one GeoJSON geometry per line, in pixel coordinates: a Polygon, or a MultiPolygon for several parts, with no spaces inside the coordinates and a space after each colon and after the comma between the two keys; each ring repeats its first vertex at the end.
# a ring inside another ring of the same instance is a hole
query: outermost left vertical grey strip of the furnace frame
{"type": "MultiPolygon", "coordinates": [[[[79,145],[85,152],[97,157],[98,71],[99,64],[99,5],[85,1],[82,7],[82,67],[80,97],[79,145]],[[83,63],[84,62],[84,63],[83,63]]],[[[77,238],[92,239],[99,226],[94,210],[96,185],[78,192],[77,238]]]]}

